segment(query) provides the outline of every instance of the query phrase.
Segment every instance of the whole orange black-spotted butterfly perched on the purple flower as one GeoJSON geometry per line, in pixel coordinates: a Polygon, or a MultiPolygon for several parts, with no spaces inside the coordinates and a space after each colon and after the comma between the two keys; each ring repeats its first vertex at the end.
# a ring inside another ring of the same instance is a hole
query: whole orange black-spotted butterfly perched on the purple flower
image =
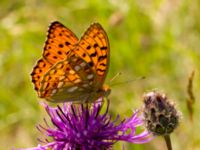
{"type": "Polygon", "coordinates": [[[93,102],[111,92],[104,84],[109,58],[108,37],[99,23],[90,25],[79,40],[55,21],[31,73],[32,82],[38,96],[50,102],[93,102]]]}

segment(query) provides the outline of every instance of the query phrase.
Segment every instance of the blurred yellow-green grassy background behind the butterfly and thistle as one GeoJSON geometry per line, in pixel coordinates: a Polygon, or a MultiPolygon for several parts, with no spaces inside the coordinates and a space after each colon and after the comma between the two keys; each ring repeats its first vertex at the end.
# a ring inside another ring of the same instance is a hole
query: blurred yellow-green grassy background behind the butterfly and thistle
{"type": "MultiPolygon", "coordinates": [[[[198,0],[1,0],[0,149],[37,145],[45,111],[30,73],[41,57],[48,25],[58,20],[80,37],[92,22],[106,30],[111,47],[110,113],[130,116],[150,90],[167,93],[182,111],[171,135],[175,150],[200,149],[200,1],[198,0]],[[186,107],[188,76],[195,70],[194,121],[186,107]],[[138,79],[145,76],[146,79],[138,79]],[[130,81],[135,80],[135,81],[130,81]],[[126,82],[128,81],[128,83],[126,82]],[[130,81],[130,82],[129,82],[130,81]],[[118,84],[124,82],[123,84],[118,84]]],[[[162,138],[114,149],[165,150],[162,138]]]]}

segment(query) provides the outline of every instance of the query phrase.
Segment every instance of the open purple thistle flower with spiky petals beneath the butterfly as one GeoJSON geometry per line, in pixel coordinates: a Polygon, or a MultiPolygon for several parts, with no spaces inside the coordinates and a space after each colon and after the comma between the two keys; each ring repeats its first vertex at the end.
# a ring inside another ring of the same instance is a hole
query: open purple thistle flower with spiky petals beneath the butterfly
{"type": "Polygon", "coordinates": [[[64,103],[62,108],[43,105],[53,127],[46,120],[46,127],[39,125],[38,130],[46,136],[45,140],[39,139],[44,145],[27,150],[107,150],[117,141],[141,144],[152,139],[148,131],[136,134],[136,127],[143,125],[138,111],[123,121],[119,115],[112,121],[108,114],[109,103],[103,114],[100,113],[103,103],[94,103],[90,107],[64,103]]]}

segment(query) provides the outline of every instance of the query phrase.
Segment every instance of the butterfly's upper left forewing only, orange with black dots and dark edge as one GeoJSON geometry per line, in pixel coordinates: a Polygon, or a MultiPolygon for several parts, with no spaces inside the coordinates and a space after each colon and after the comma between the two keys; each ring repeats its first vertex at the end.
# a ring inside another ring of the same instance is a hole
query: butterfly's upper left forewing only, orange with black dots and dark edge
{"type": "Polygon", "coordinates": [[[55,21],[49,27],[43,57],[51,64],[56,64],[68,57],[77,42],[78,38],[71,30],[55,21]]]}

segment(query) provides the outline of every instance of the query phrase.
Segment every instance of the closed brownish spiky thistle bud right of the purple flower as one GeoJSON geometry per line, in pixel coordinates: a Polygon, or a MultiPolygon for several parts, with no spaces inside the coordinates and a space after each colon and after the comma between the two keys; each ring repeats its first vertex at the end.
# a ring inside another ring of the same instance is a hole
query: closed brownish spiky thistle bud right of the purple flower
{"type": "Polygon", "coordinates": [[[143,112],[146,128],[154,135],[168,135],[178,126],[180,113],[163,93],[146,93],[143,112]]]}

